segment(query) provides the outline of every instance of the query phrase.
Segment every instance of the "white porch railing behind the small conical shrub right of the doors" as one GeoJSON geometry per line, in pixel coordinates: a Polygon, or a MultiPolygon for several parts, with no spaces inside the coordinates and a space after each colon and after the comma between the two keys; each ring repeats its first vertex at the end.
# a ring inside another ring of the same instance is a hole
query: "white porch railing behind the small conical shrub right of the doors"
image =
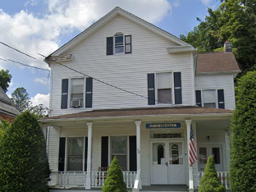
{"type": "MultiPolygon", "coordinates": [[[[200,179],[203,176],[203,171],[194,171],[194,188],[198,189],[200,185],[200,179]]],[[[230,190],[230,175],[228,171],[217,171],[217,176],[219,177],[222,185],[226,187],[226,190],[230,190]]]]}

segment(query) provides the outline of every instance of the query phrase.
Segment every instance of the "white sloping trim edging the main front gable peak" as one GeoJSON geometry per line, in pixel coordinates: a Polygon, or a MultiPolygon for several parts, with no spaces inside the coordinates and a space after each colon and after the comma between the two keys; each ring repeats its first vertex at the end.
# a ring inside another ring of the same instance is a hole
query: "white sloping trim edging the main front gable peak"
{"type": "Polygon", "coordinates": [[[89,37],[90,34],[93,34],[96,30],[101,28],[108,21],[111,21],[115,16],[118,16],[118,15],[123,16],[126,19],[129,19],[130,21],[133,21],[138,25],[141,25],[148,30],[151,30],[153,33],[159,34],[166,39],[170,39],[171,41],[178,43],[181,46],[190,46],[193,48],[192,45],[190,45],[189,43],[185,43],[185,41],[177,38],[175,35],[170,34],[165,30],[160,29],[159,27],[149,23],[148,21],[144,21],[143,19],[139,18],[138,16],[135,16],[135,15],[131,14],[130,12],[121,9],[120,7],[116,7],[112,11],[108,12],[107,15],[103,16],[101,19],[96,21],[93,25],[90,25],[89,28],[87,28],[80,34],[76,35],[75,38],[71,39],[69,42],[62,45],[62,47],[58,48],[55,52],[51,53],[48,57],[58,56],[58,55],[64,53],[69,48],[75,47],[75,45],[77,43],[80,43],[81,41],[83,41],[84,39],[89,37]]]}

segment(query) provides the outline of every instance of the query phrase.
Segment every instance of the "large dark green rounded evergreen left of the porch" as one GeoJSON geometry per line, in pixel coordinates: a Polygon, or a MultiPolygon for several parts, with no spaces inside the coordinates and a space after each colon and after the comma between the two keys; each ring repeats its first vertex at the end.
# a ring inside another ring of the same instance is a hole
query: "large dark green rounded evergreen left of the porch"
{"type": "Polygon", "coordinates": [[[1,191],[48,191],[50,170],[39,122],[24,112],[0,139],[1,191]]]}

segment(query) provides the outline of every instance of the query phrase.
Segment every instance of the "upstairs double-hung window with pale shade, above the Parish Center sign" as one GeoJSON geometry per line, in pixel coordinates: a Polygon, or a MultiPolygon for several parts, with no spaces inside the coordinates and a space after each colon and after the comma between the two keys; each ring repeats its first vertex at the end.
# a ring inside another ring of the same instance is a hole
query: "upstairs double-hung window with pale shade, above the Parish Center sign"
{"type": "Polygon", "coordinates": [[[172,103],[171,88],[172,88],[172,75],[171,73],[158,73],[157,74],[157,91],[158,103],[172,103]]]}

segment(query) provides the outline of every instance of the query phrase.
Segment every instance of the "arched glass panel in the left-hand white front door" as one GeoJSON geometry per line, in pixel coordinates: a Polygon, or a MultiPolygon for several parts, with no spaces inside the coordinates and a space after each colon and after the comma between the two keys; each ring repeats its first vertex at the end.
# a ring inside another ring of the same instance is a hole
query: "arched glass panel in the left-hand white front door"
{"type": "Polygon", "coordinates": [[[165,144],[153,144],[153,165],[164,165],[166,163],[165,157],[165,144]]]}

